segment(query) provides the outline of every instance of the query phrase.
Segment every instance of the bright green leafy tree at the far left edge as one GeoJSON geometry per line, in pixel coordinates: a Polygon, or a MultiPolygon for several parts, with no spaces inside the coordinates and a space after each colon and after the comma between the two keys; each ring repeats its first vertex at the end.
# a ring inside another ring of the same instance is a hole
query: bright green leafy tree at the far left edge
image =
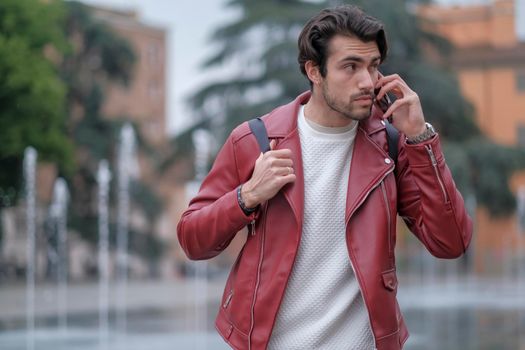
{"type": "Polygon", "coordinates": [[[57,74],[64,19],[62,1],[0,2],[0,207],[16,203],[27,146],[62,173],[73,170],[66,88],[57,74]]]}

